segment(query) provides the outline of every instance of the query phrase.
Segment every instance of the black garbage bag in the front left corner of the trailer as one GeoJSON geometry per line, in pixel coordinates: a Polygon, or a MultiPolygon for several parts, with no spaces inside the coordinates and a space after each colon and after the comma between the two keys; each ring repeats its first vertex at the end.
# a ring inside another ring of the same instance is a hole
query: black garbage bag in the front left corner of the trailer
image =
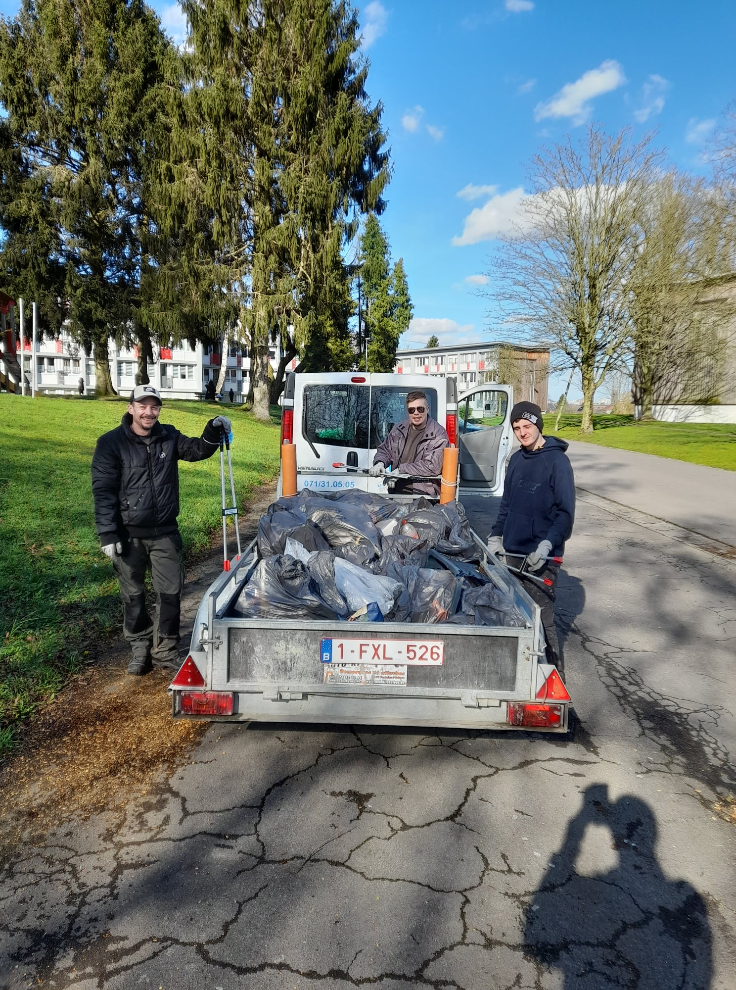
{"type": "Polygon", "coordinates": [[[278,554],[258,563],[234,609],[249,619],[335,619],[302,561],[278,554]]]}

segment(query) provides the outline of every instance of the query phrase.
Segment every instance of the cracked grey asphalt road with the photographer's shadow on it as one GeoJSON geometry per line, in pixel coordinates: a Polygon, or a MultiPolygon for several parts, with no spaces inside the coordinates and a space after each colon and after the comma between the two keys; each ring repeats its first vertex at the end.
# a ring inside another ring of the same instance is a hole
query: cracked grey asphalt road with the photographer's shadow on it
{"type": "Polygon", "coordinates": [[[0,987],[733,990],[736,563],[640,523],[581,496],[568,739],[213,725],[19,848],[0,987]]]}

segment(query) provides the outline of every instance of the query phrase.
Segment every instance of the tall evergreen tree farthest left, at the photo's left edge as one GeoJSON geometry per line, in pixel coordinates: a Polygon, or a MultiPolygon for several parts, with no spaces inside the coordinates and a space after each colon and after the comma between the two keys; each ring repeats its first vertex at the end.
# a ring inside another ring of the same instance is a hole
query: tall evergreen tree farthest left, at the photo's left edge
{"type": "Polygon", "coordinates": [[[4,126],[18,148],[16,257],[19,226],[45,222],[43,260],[28,259],[19,277],[47,296],[63,271],[60,295],[73,336],[94,347],[98,394],[114,394],[108,338],[130,336],[139,304],[146,155],[167,48],[141,0],[24,0],[0,32],[4,126]]]}

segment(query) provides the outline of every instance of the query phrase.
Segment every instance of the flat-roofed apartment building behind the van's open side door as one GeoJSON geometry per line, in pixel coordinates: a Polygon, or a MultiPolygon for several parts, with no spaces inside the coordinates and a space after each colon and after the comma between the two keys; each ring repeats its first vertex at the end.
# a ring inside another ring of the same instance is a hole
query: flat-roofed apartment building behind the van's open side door
{"type": "Polygon", "coordinates": [[[505,342],[461,347],[416,347],[396,355],[399,374],[449,375],[458,393],[489,381],[514,386],[514,397],[547,407],[549,347],[522,347],[505,342]]]}

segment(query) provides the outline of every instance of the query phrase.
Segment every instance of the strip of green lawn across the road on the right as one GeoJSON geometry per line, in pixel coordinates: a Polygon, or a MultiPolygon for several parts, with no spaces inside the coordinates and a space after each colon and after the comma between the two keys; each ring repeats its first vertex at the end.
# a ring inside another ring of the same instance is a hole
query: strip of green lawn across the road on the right
{"type": "MultiPolygon", "coordinates": [[[[554,433],[555,414],[545,417],[546,432],[554,433]]],[[[581,440],[598,446],[656,453],[660,457],[689,460],[692,464],[724,467],[736,471],[736,425],[704,423],[637,422],[633,416],[594,416],[593,434],[582,434],[579,413],[563,414],[558,437],[581,440]]]]}

